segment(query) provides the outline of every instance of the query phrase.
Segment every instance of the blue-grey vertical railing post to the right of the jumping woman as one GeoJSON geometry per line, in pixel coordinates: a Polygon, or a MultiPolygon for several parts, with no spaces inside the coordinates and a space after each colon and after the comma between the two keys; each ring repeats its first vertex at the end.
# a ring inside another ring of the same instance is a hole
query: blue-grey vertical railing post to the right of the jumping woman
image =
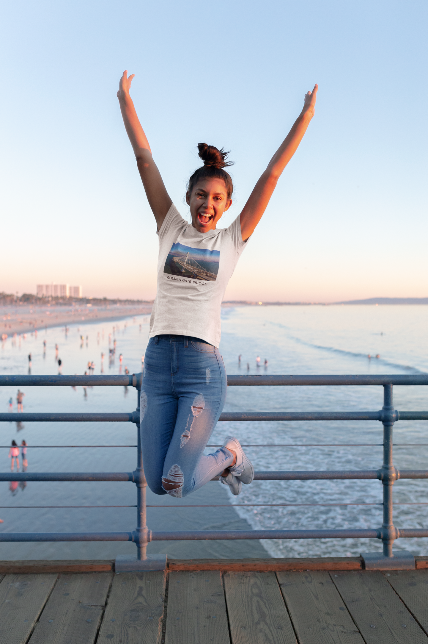
{"type": "Polygon", "coordinates": [[[396,529],[393,524],[393,484],[396,471],[393,466],[393,385],[384,384],[384,463],[382,464],[382,484],[384,486],[384,522],[382,524],[382,541],[384,542],[384,556],[393,556],[393,543],[396,539],[396,529]]]}

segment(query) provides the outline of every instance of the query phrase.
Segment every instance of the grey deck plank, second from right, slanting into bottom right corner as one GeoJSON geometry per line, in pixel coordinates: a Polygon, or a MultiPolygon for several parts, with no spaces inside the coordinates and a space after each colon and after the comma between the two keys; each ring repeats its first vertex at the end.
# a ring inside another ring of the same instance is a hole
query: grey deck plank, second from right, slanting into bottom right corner
{"type": "Polygon", "coordinates": [[[330,576],[366,644],[428,644],[380,571],[336,571],[330,576]]]}

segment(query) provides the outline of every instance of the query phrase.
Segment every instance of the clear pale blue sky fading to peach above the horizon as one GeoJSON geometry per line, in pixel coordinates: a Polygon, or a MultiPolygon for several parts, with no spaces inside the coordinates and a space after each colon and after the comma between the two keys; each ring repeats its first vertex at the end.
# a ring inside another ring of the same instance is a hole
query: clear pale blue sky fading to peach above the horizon
{"type": "Polygon", "coordinates": [[[230,149],[239,214],[318,82],[315,117],[225,299],[428,296],[427,3],[4,3],[0,291],[154,297],[158,243],[124,69],[187,216],[196,145],[230,149]]]}

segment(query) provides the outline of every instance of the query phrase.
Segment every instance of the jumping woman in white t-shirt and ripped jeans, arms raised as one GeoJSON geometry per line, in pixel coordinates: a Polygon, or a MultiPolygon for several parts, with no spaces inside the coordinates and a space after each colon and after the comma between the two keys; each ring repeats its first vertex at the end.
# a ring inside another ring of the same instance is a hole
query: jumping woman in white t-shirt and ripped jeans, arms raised
{"type": "MultiPolygon", "coordinates": [[[[125,128],[159,237],[158,286],[150,319],[140,395],[144,471],[156,494],[185,497],[213,477],[234,495],[254,468],[234,437],[203,455],[226,399],[219,354],[220,305],[228,280],[259,223],[279,176],[295,153],[315,111],[318,86],[304,97],[295,121],[241,214],[225,229],[219,219],[232,205],[228,153],[198,144],[203,166],[189,179],[191,223],[172,204],[129,95],[134,75],[124,71],[117,93],[125,128]]],[[[174,158],[176,152],[174,151],[174,158]]]]}

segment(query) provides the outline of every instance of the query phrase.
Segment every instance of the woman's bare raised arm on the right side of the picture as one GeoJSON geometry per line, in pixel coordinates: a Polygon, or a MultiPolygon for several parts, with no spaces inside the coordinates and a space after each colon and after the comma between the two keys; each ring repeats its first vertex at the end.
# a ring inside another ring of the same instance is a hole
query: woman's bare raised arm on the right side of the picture
{"type": "Polygon", "coordinates": [[[266,167],[265,172],[257,181],[254,190],[248,198],[247,204],[245,204],[241,212],[241,234],[243,240],[247,240],[253,234],[257,223],[259,223],[266,210],[266,206],[275,190],[279,177],[283,173],[284,167],[288,164],[290,158],[292,158],[297,147],[299,147],[299,143],[315,113],[317,91],[318,85],[315,85],[312,92],[308,91],[305,95],[303,109],[299,117],[281,146],[279,146],[274,156],[272,156],[268,167],[266,167]]]}

